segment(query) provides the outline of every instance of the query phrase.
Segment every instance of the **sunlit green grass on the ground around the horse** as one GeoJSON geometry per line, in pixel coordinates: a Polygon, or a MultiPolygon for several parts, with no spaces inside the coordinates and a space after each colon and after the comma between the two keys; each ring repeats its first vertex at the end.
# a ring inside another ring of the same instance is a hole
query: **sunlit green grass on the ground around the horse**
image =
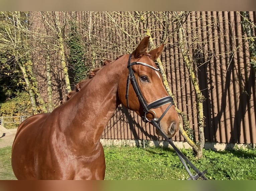
{"type": "MultiPolygon", "coordinates": [[[[106,180],[186,180],[189,176],[172,149],[149,147],[104,147],[106,180]]],[[[181,150],[199,170],[208,170],[210,180],[256,180],[256,149],[204,150],[196,160],[192,149],[181,150]]],[[[193,169],[190,169],[195,173],[193,169]]],[[[0,149],[0,179],[15,179],[11,147],[0,149]]]]}

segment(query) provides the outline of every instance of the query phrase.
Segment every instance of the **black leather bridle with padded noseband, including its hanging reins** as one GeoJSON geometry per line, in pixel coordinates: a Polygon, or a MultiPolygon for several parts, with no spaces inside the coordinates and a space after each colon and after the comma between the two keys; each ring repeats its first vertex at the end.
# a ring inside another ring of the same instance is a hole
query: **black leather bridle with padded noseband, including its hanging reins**
{"type": "Polygon", "coordinates": [[[134,72],[132,70],[132,65],[135,65],[135,64],[140,64],[140,65],[143,65],[143,66],[146,66],[146,67],[149,67],[155,71],[159,71],[158,68],[154,68],[153,66],[150,66],[146,63],[143,63],[143,62],[133,62],[131,63],[131,56],[132,54],[130,54],[129,56],[129,60],[128,60],[128,66],[127,68],[129,69],[129,74],[128,74],[128,78],[127,78],[127,86],[126,86],[126,104],[127,104],[127,108],[129,109],[129,86],[130,86],[130,81],[132,82],[132,86],[134,88],[134,91],[136,93],[136,95],[138,96],[141,104],[143,105],[143,108],[144,108],[144,116],[142,116],[142,120],[144,122],[151,122],[156,128],[157,130],[161,133],[161,135],[165,138],[166,141],[169,142],[169,144],[173,147],[173,149],[175,150],[175,152],[177,153],[179,159],[181,160],[182,164],[184,165],[185,169],[187,170],[188,174],[190,175],[190,178],[188,178],[188,180],[197,180],[199,177],[201,177],[203,180],[208,180],[206,177],[205,177],[205,173],[207,172],[207,170],[201,172],[195,165],[193,165],[187,158],[186,156],[180,152],[180,150],[174,145],[173,141],[171,138],[168,138],[162,131],[162,129],[160,128],[160,120],[163,118],[163,116],[166,114],[166,112],[170,109],[170,107],[172,105],[174,105],[174,102],[173,102],[173,98],[171,96],[166,96],[166,97],[163,97],[163,98],[160,98],[156,101],[153,101],[151,103],[147,103],[145,98],[143,97],[141,91],[140,91],[140,88],[139,88],[139,85],[136,81],[136,78],[135,78],[135,75],[134,75],[134,72]],[[154,108],[158,108],[158,107],[161,107],[162,105],[165,105],[165,104],[168,104],[168,107],[165,109],[165,111],[163,112],[163,114],[157,118],[156,117],[156,114],[153,110],[151,109],[154,109],[154,108]],[[147,117],[146,117],[146,114],[151,111],[155,114],[155,117],[152,118],[152,120],[148,120],[147,117]],[[189,164],[196,172],[197,174],[196,175],[193,175],[189,168],[187,167],[186,163],[189,164]]]}

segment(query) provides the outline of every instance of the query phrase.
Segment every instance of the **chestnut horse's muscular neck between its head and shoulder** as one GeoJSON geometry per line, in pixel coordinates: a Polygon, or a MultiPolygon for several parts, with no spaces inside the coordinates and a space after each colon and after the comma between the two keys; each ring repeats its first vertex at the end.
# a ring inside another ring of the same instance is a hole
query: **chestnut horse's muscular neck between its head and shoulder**
{"type": "Polygon", "coordinates": [[[117,96],[118,79],[125,69],[126,66],[119,63],[103,67],[81,92],[65,103],[68,109],[65,112],[68,113],[64,116],[70,117],[61,123],[67,136],[72,136],[76,144],[83,147],[85,143],[98,144],[104,128],[120,104],[117,96]]]}

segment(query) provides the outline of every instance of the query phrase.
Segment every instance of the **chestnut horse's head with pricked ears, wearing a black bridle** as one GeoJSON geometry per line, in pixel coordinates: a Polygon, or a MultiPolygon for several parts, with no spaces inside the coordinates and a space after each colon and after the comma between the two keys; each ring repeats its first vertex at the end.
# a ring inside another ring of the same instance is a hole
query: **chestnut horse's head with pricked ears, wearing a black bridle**
{"type": "Polygon", "coordinates": [[[154,62],[161,55],[164,45],[147,52],[148,43],[149,37],[145,37],[129,55],[127,64],[130,71],[123,74],[128,76],[128,80],[120,82],[118,96],[125,107],[134,110],[144,121],[156,121],[162,132],[170,138],[178,130],[179,117],[154,62]],[[130,81],[135,81],[137,87],[134,82],[130,85],[130,81]]]}

